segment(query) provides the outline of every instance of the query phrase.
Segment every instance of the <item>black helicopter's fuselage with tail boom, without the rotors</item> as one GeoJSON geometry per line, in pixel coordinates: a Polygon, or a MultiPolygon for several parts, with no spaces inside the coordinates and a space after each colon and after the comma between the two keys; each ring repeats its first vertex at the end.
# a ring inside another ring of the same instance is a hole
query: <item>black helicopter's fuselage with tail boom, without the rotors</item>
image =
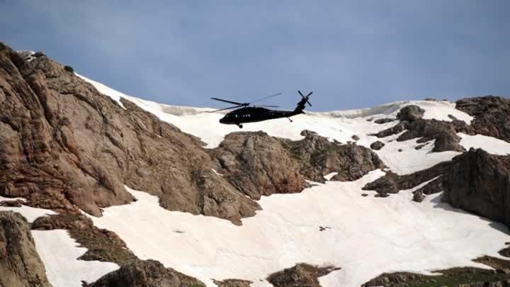
{"type": "Polygon", "coordinates": [[[290,118],[300,113],[304,112],[297,109],[295,111],[277,111],[268,108],[249,106],[238,108],[235,111],[227,113],[220,119],[220,123],[225,125],[239,125],[239,127],[242,127],[242,123],[255,123],[263,120],[271,120],[273,118],[290,118]]]}

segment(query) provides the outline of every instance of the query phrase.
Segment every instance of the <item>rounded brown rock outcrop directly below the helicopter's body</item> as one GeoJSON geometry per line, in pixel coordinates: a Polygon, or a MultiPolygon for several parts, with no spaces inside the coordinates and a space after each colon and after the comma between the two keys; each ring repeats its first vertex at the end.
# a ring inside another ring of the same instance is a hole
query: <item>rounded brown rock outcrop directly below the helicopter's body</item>
{"type": "Polygon", "coordinates": [[[297,162],[266,133],[231,133],[211,153],[225,179],[251,198],[297,193],[307,186],[297,162]]]}

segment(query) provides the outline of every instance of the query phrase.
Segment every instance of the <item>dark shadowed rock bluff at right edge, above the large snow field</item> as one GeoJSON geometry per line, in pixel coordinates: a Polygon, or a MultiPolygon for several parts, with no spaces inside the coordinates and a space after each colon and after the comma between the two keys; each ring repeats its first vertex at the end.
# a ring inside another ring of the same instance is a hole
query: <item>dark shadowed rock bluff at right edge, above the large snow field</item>
{"type": "Polygon", "coordinates": [[[471,149],[443,176],[443,201],[510,226],[510,156],[471,149]]]}

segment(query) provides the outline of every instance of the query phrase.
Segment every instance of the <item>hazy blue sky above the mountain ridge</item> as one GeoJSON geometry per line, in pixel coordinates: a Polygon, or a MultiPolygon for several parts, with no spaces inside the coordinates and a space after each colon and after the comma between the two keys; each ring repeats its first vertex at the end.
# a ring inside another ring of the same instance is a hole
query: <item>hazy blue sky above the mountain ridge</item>
{"type": "Polygon", "coordinates": [[[131,96],[312,111],[510,95],[510,1],[0,0],[0,41],[131,96]]]}

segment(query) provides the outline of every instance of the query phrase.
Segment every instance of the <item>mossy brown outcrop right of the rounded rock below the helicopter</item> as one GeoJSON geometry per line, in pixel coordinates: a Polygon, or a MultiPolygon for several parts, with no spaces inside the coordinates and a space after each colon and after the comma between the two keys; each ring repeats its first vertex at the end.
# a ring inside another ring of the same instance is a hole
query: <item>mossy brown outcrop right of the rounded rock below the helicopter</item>
{"type": "Polygon", "coordinates": [[[324,176],[337,172],[332,181],[353,181],[384,167],[378,155],[358,145],[338,145],[326,137],[304,132],[303,140],[281,140],[286,150],[300,163],[301,174],[312,181],[324,182],[324,176]]]}

